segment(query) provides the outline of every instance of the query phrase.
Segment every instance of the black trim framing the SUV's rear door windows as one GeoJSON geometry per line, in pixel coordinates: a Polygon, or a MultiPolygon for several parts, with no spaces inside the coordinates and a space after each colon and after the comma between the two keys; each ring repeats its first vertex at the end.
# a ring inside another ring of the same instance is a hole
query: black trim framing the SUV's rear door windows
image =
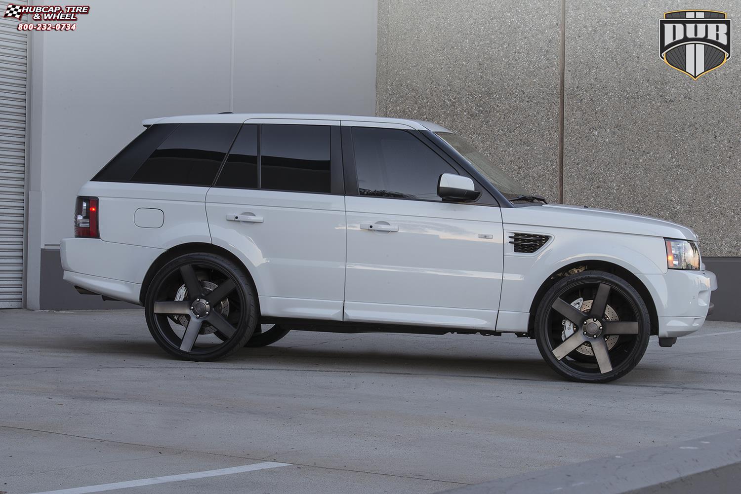
{"type": "Polygon", "coordinates": [[[269,192],[285,192],[285,193],[294,193],[294,194],[319,194],[322,196],[345,196],[345,180],[343,178],[344,172],[342,170],[342,140],[340,138],[340,128],[339,125],[332,125],[332,124],[304,124],[304,123],[296,123],[296,124],[283,124],[283,123],[257,123],[257,124],[250,124],[249,121],[245,121],[242,123],[242,127],[239,128],[239,131],[236,133],[236,136],[234,136],[234,141],[232,141],[231,146],[229,147],[229,150],[226,153],[226,156],[224,157],[224,161],[222,161],[222,166],[219,167],[219,173],[216,173],[216,177],[213,178],[213,182],[211,183],[212,188],[218,188],[218,189],[242,189],[242,190],[265,190],[269,192]],[[257,187],[241,187],[241,186],[234,186],[234,187],[227,187],[225,185],[216,185],[216,182],[219,181],[219,176],[222,174],[222,170],[224,168],[224,165],[226,164],[229,155],[231,153],[232,147],[234,146],[234,142],[236,142],[236,136],[239,136],[239,132],[242,131],[242,127],[245,125],[256,125],[257,126],[257,187]],[[311,192],[308,190],[282,190],[282,189],[263,189],[262,188],[262,126],[263,125],[317,125],[319,127],[330,127],[330,142],[329,142],[329,160],[330,160],[330,192],[311,192]]]}

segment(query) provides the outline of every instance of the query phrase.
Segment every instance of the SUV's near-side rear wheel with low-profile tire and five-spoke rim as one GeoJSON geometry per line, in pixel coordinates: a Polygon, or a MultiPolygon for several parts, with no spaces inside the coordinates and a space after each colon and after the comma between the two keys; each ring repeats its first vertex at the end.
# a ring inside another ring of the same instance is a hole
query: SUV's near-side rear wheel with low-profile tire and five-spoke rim
{"type": "Polygon", "coordinates": [[[182,360],[213,361],[250,339],[257,324],[255,300],[242,267],[216,254],[187,254],[156,273],[144,315],[162,350],[182,360]]]}

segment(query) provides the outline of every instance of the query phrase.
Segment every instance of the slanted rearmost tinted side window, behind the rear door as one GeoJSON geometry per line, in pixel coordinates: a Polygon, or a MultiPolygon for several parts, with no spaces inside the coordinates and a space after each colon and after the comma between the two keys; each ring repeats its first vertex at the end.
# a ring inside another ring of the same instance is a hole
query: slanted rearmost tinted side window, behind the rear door
{"type": "Polygon", "coordinates": [[[180,124],[131,181],[210,186],[237,130],[239,124],[180,124]]]}

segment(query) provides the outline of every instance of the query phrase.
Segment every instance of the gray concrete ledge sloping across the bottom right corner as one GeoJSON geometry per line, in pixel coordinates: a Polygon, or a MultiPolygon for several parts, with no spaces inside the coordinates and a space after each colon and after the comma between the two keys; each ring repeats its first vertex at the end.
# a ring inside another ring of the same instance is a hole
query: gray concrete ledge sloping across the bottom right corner
{"type": "Polygon", "coordinates": [[[445,491],[455,494],[737,494],[741,431],[445,491]]]}

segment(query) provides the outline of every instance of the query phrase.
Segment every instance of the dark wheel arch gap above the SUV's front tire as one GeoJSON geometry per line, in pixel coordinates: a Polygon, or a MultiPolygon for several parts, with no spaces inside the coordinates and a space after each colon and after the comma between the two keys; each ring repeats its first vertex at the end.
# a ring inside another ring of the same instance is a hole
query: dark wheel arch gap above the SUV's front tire
{"type": "Polygon", "coordinates": [[[605,273],[611,273],[615,276],[619,276],[623,280],[627,281],[631,287],[634,287],[639,295],[645,301],[646,307],[648,307],[649,318],[651,319],[651,335],[657,335],[659,331],[659,317],[654,302],[654,297],[651,296],[651,292],[643,282],[626,267],[614,264],[609,261],[599,260],[582,260],[576,261],[571,264],[566,264],[560,267],[558,270],[551,273],[545,281],[542,282],[538,288],[533,301],[530,305],[530,318],[528,320],[528,336],[534,338],[534,327],[535,327],[535,313],[545,293],[548,292],[554,284],[556,284],[561,278],[565,276],[571,276],[572,274],[581,273],[585,270],[604,271],[605,273]]]}

